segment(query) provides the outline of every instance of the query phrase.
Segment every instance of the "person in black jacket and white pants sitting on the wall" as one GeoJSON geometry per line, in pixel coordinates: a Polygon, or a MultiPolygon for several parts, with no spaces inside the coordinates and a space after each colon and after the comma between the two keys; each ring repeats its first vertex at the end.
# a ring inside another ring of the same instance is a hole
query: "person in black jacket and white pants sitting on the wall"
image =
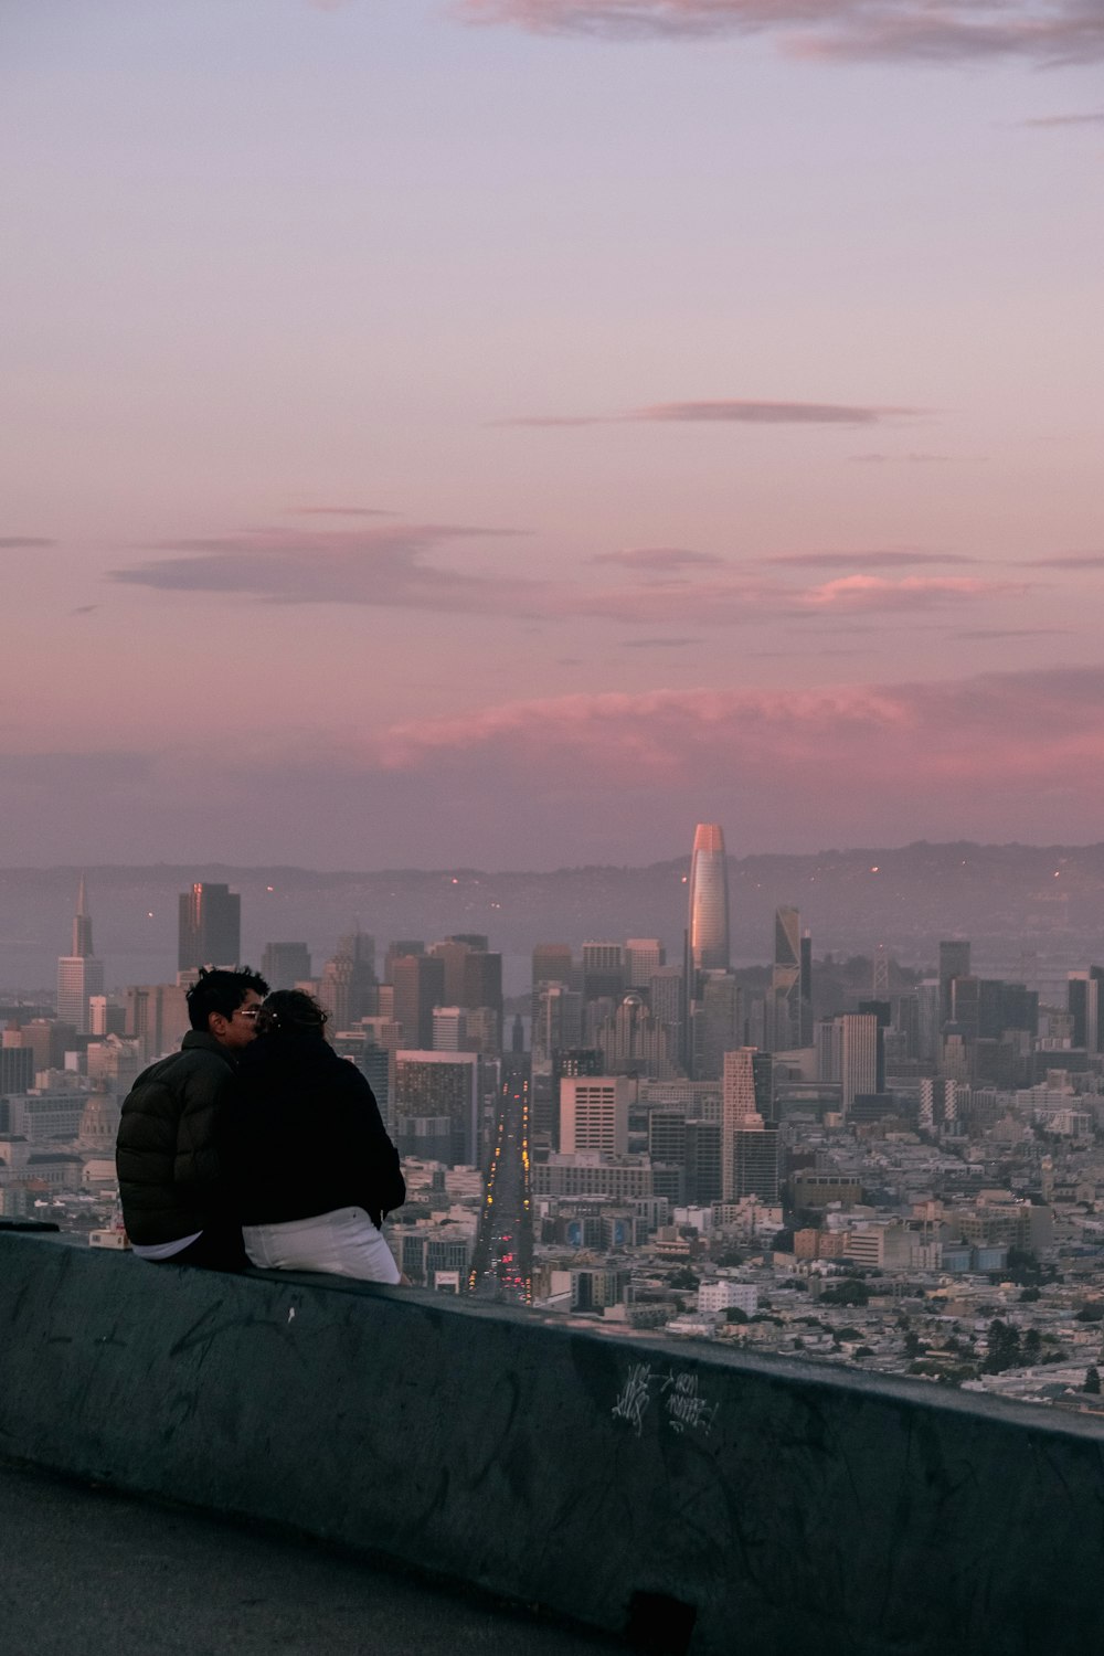
{"type": "Polygon", "coordinates": [[[311,995],[280,989],[242,1057],[227,1131],[245,1252],[268,1270],[397,1283],[379,1227],[406,1201],[399,1153],[371,1086],[324,1027],[311,995]]]}

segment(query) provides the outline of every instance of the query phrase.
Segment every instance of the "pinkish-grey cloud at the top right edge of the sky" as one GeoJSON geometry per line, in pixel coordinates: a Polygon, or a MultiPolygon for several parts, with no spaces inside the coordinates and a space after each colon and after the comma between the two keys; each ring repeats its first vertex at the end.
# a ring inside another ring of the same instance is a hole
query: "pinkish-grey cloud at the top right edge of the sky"
{"type": "Polygon", "coordinates": [[[470,23],[611,40],[770,31],[794,53],[826,58],[1096,63],[1104,56],[1099,0],[454,0],[452,10],[470,23]]]}

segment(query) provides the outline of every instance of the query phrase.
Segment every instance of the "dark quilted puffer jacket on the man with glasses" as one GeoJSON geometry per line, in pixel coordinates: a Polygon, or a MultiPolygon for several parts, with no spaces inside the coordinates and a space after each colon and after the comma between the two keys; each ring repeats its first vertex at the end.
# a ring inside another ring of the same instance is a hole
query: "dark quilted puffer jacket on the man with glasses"
{"type": "Polygon", "coordinates": [[[116,1169],[131,1242],[194,1235],[223,1217],[218,1114],[235,1065],[214,1035],[189,1030],[169,1058],[142,1070],[119,1121],[116,1169]]]}

